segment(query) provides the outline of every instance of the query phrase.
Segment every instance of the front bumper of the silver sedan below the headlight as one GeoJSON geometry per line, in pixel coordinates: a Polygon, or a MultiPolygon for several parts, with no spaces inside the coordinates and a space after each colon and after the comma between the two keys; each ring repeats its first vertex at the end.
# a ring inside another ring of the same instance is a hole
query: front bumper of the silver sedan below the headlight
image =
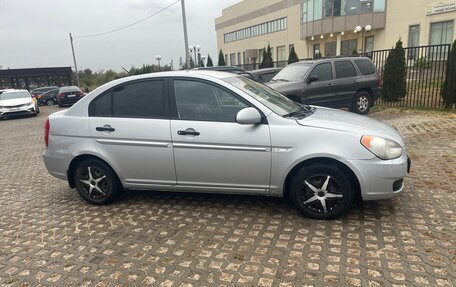
{"type": "Polygon", "coordinates": [[[410,159],[404,153],[400,158],[381,160],[352,160],[363,200],[392,198],[404,189],[403,179],[410,170],[410,159]]]}

